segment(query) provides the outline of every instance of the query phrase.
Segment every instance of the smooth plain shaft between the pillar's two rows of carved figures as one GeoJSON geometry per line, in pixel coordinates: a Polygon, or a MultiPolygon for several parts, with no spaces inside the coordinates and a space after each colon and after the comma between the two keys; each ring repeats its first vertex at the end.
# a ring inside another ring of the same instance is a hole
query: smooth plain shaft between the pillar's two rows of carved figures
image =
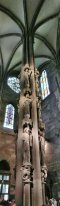
{"type": "Polygon", "coordinates": [[[38,88],[35,79],[36,71],[31,64],[31,87],[32,87],[32,121],[33,121],[33,195],[32,205],[42,206],[42,185],[41,185],[41,167],[38,141],[38,119],[37,119],[37,102],[38,88]]]}

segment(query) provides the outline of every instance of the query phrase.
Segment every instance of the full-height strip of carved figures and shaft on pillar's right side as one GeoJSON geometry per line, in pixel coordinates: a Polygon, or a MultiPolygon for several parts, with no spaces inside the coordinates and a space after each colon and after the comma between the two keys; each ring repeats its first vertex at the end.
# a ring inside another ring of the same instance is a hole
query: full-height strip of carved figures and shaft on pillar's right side
{"type": "Polygon", "coordinates": [[[45,183],[46,183],[46,178],[47,178],[47,167],[45,164],[45,125],[44,125],[42,118],[41,118],[41,91],[40,91],[39,78],[40,78],[39,72],[37,71],[37,69],[35,69],[42,204],[45,205],[45,183]]]}

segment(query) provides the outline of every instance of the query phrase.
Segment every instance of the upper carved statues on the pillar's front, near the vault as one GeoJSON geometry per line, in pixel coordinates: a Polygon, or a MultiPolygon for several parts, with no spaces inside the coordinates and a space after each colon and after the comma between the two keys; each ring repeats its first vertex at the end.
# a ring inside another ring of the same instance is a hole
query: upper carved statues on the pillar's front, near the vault
{"type": "Polygon", "coordinates": [[[21,96],[20,96],[20,101],[19,101],[19,105],[20,105],[20,110],[23,113],[23,118],[26,114],[30,114],[31,113],[31,88],[30,88],[30,78],[31,78],[31,69],[29,67],[28,64],[26,64],[23,68],[22,68],[22,72],[21,72],[21,96]]]}

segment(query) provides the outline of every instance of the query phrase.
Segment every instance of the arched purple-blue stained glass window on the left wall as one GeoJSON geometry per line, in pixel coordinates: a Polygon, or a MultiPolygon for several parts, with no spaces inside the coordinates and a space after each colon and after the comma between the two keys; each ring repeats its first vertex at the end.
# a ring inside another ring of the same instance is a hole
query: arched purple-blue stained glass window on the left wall
{"type": "Polygon", "coordinates": [[[14,123],[14,107],[13,105],[8,104],[6,106],[4,127],[13,129],[13,123],[14,123]]]}

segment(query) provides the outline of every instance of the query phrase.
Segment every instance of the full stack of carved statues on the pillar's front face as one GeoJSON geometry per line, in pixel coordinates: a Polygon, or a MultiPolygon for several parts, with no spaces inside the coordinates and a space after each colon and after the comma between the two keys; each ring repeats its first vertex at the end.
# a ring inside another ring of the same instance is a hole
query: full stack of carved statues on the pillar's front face
{"type": "Polygon", "coordinates": [[[22,112],[22,181],[31,183],[32,164],[30,148],[32,147],[32,121],[31,121],[31,68],[26,64],[21,71],[21,96],[19,100],[20,113],[22,112]]]}

